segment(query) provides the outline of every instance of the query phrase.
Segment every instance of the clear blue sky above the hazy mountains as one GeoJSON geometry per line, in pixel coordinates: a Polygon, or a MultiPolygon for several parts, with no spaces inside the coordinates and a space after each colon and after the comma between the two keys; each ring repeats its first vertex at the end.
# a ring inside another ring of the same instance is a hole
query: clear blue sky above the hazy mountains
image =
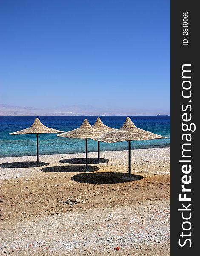
{"type": "Polygon", "coordinates": [[[169,111],[169,0],[1,0],[0,103],[169,111]]]}

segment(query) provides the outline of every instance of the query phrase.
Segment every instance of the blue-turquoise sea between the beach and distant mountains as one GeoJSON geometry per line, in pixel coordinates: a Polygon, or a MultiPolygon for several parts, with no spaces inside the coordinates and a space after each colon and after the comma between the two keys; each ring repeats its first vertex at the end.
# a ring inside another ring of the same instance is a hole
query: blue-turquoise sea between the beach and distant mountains
{"type": "MultiPolygon", "coordinates": [[[[36,134],[10,135],[29,128],[36,116],[0,116],[0,157],[28,156],[36,154],[36,134]]],[[[70,131],[79,128],[85,118],[91,125],[97,116],[37,116],[51,128],[70,131]]],[[[159,140],[132,141],[131,149],[160,148],[170,146],[170,116],[129,116],[141,129],[168,137],[159,140]]],[[[100,116],[102,122],[113,128],[121,128],[126,116],[100,116]]],[[[85,141],[57,137],[56,134],[39,135],[39,154],[69,154],[85,151],[85,141]]],[[[100,151],[126,150],[127,142],[100,143],[100,151]]],[[[88,151],[97,151],[97,142],[88,140],[88,151]]]]}

